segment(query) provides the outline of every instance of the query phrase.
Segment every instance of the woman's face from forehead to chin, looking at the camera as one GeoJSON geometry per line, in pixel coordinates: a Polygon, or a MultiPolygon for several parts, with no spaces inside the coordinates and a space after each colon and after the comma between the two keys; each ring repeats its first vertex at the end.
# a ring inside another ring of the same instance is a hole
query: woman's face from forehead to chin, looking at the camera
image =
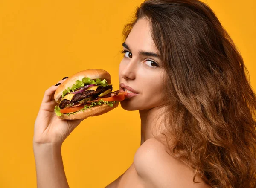
{"type": "Polygon", "coordinates": [[[124,58],[119,65],[120,91],[127,91],[124,88],[127,86],[133,93],[120,102],[122,108],[144,110],[163,104],[164,71],[148,20],[137,21],[123,43],[123,49],[124,58]]]}

